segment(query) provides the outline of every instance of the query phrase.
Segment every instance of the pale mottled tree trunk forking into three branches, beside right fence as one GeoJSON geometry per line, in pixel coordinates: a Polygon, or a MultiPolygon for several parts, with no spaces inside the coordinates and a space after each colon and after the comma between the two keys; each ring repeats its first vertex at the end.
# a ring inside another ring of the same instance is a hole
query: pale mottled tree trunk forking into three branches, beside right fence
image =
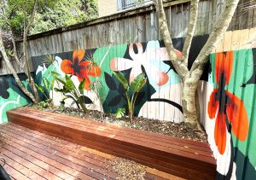
{"type": "MultiPolygon", "coordinates": [[[[224,10],[217,22],[212,28],[212,32],[207,40],[207,43],[201,49],[200,54],[197,56],[193,62],[190,70],[188,69],[188,55],[192,42],[192,38],[195,33],[195,25],[198,15],[198,3],[199,0],[193,0],[190,2],[190,20],[189,28],[187,32],[187,37],[185,39],[185,44],[183,47],[183,57],[177,57],[175,55],[175,49],[172,45],[171,34],[168,30],[168,25],[166,22],[166,15],[163,7],[162,0],[154,0],[156,13],[158,15],[160,33],[166,44],[166,49],[170,59],[172,61],[173,67],[176,69],[178,75],[181,77],[183,82],[183,114],[185,123],[189,126],[195,128],[195,131],[201,130],[201,125],[199,123],[199,108],[196,108],[196,89],[203,73],[203,69],[208,61],[208,55],[212,52],[212,49],[215,48],[216,44],[220,41],[221,37],[224,35],[224,32],[227,30],[230,25],[230,21],[236,6],[239,0],[226,0],[224,10]]],[[[198,106],[197,106],[198,107],[198,106]]]]}

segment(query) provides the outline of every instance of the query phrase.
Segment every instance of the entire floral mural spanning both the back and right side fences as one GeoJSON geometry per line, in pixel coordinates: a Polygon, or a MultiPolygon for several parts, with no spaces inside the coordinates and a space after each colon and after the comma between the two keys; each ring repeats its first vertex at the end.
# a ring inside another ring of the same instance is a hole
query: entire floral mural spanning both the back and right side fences
{"type": "MultiPolygon", "coordinates": [[[[207,36],[193,40],[189,67],[206,40],[207,36]]],[[[180,55],[183,38],[174,39],[173,44],[177,55],[180,55]]],[[[213,53],[210,62],[198,90],[201,123],[217,159],[217,179],[253,179],[256,177],[256,143],[253,143],[256,140],[256,49],[213,53]]],[[[136,115],[183,122],[180,78],[162,41],[73,50],[56,54],[52,64],[45,64],[44,56],[33,57],[32,63],[38,84],[42,84],[42,77],[51,81],[50,71],[62,76],[71,74],[75,84],[85,78],[86,96],[90,100],[88,102],[92,102],[87,107],[106,113],[126,107],[124,89],[113,76],[113,71],[121,71],[130,82],[137,74],[145,73],[148,82],[138,94],[136,115]],[[101,99],[90,87],[96,80],[102,84],[101,99]]],[[[0,94],[2,122],[6,121],[6,110],[29,102],[15,85],[14,79],[6,79],[0,78],[1,84],[5,82],[0,94]]],[[[61,94],[54,93],[54,102],[59,104],[61,94]]]]}

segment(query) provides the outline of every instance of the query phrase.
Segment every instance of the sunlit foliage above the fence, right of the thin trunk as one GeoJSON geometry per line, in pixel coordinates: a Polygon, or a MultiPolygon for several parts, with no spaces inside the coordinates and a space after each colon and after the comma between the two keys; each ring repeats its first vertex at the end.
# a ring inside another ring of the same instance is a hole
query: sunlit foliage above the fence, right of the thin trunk
{"type": "Polygon", "coordinates": [[[98,17],[96,0],[59,0],[54,8],[45,8],[35,16],[31,34],[49,31],[62,26],[71,26],[98,17]],[[86,2],[86,3],[85,3],[86,2]]]}

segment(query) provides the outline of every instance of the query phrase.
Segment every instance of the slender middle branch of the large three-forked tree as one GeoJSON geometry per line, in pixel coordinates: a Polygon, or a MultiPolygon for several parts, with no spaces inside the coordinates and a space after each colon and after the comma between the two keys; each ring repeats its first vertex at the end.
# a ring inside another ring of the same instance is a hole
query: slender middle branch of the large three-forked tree
{"type": "Polygon", "coordinates": [[[183,61],[188,66],[189,59],[189,49],[191,47],[192,39],[195,34],[195,26],[198,16],[198,3],[199,0],[192,0],[190,2],[190,19],[189,19],[189,28],[187,32],[187,37],[183,45],[183,61]]]}

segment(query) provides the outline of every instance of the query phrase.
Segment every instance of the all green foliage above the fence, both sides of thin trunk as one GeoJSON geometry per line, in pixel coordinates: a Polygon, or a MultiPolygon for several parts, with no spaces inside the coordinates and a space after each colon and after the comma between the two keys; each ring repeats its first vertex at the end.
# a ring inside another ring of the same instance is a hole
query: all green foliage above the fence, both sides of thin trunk
{"type": "MultiPolygon", "coordinates": [[[[17,35],[21,35],[25,20],[26,24],[30,20],[35,1],[7,0],[5,14],[0,14],[0,25],[3,29],[8,29],[6,25],[9,25],[17,35]]],[[[96,0],[38,0],[37,13],[29,34],[70,26],[96,17],[98,17],[96,0]]]]}

